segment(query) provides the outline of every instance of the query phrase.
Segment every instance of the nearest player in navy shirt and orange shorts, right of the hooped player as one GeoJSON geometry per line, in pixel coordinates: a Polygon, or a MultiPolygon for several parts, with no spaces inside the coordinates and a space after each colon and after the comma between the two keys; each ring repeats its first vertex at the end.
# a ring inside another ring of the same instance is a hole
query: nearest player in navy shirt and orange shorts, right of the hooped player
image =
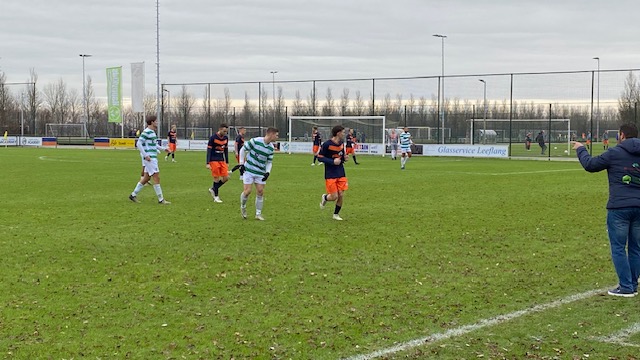
{"type": "Polygon", "coordinates": [[[326,194],[322,194],[320,208],[324,209],[327,201],[335,201],[336,207],[333,211],[333,219],[342,221],[340,209],[344,199],[344,192],[349,188],[347,175],[344,172],[344,162],[349,156],[344,151],[344,127],[336,125],[331,129],[331,139],[322,144],[318,153],[318,160],[324,163],[324,178],[326,194]]]}

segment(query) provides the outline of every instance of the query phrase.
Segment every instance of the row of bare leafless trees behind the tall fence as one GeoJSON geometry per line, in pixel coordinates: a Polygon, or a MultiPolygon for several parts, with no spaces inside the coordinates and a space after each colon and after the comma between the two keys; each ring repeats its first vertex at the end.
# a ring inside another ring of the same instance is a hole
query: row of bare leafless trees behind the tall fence
{"type": "MultiPolygon", "coordinates": [[[[371,92],[352,92],[343,88],[334,95],[335,89],[326,87],[321,90],[301,93],[295,92],[293,99],[286,99],[283,88],[278,87],[273,94],[267,89],[260,90],[259,99],[251,98],[244,91],[244,99],[232,98],[229,88],[224,89],[221,98],[211,98],[209,87],[203,86],[198,95],[192,88],[181,86],[174,93],[163,91],[162,112],[163,128],[176,124],[179,128],[215,128],[221,122],[236,126],[272,126],[286,129],[287,116],[360,116],[385,115],[387,127],[429,126],[438,127],[440,113],[444,110],[445,127],[451,128],[452,137],[468,135],[469,120],[482,119],[484,103],[482,100],[446,98],[442,108],[437,95],[415,97],[413,94],[390,93],[375,98],[371,92]],[[270,96],[271,95],[271,96],[270,96]],[[406,97],[405,97],[406,96],[406,97]]],[[[118,136],[119,126],[107,122],[106,101],[95,96],[91,77],[87,78],[86,99],[88,119],[85,119],[83,94],[69,88],[63,79],[40,87],[38,74],[30,70],[30,76],[22,84],[7,84],[6,75],[0,72],[0,128],[11,134],[20,134],[24,119],[26,135],[42,136],[45,124],[76,124],[86,121],[91,136],[118,136]]],[[[533,101],[508,100],[490,101],[487,104],[489,119],[540,119],[569,118],[571,127],[577,131],[590,131],[591,119],[598,118],[601,129],[617,129],[624,122],[638,121],[638,103],[640,102],[640,81],[629,72],[624,90],[618,98],[617,106],[603,106],[593,109],[593,104],[541,104],[533,101]],[[551,111],[551,113],[550,113],[551,111]]],[[[145,112],[155,114],[155,94],[148,93],[144,99],[145,112]]],[[[143,127],[139,114],[133,113],[130,106],[123,109],[125,132],[143,127]]],[[[595,129],[594,129],[595,130],[595,129]]]]}

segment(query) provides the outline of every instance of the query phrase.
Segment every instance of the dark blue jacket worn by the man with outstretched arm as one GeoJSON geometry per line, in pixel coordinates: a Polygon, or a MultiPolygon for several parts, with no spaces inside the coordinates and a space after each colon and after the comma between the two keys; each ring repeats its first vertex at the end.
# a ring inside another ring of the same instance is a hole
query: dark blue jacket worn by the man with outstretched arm
{"type": "Polygon", "coordinates": [[[599,156],[589,155],[584,146],[578,160],[589,172],[607,170],[609,201],[607,209],[640,207],[640,139],[625,139],[599,156]]]}

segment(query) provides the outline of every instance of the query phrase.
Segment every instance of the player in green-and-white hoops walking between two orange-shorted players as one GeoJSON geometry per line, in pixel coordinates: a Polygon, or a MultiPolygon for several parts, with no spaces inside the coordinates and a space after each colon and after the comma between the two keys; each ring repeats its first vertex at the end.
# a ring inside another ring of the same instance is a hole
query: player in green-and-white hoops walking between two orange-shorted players
{"type": "Polygon", "coordinates": [[[240,194],[240,214],[247,218],[247,201],[251,195],[251,187],[256,186],[256,220],[264,221],[262,205],[264,204],[264,185],[271,174],[273,163],[273,143],[278,140],[278,129],[270,127],[263,137],[255,137],[244,143],[240,149],[239,164],[233,170],[240,170],[244,189],[240,194]]]}

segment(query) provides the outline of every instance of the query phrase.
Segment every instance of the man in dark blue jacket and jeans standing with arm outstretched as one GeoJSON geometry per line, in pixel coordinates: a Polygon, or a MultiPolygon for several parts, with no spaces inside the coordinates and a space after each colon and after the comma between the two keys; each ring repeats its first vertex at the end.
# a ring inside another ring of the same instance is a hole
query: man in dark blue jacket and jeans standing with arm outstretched
{"type": "Polygon", "coordinates": [[[609,201],[607,230],[611,260],[618,274],[613,296],[634,297],[640,276],[640,139],[633,124],[620,126],[618,146],[592,157],[582,143],[576,150],[582,167],[589,172],[607,170],[609,201]]]}

